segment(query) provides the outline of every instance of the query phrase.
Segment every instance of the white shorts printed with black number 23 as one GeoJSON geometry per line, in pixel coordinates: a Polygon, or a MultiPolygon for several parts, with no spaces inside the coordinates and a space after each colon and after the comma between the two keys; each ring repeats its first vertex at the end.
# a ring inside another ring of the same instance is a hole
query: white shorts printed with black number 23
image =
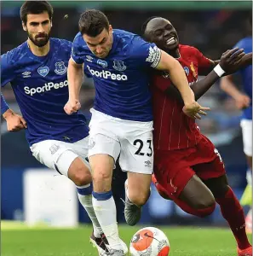
{"type": "Polygon", "coordinates": [[[114,118],[90,109],[89,156],[111,155],[124,172],[152,174],[152,122],[114,118]]]}

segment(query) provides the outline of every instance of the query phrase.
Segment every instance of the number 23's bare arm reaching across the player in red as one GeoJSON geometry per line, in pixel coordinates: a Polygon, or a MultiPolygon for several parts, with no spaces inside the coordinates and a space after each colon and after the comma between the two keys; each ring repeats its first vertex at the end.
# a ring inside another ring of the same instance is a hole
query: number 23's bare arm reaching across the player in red
{"type": "Polygon", "coordinates": [[[161,52],[161,60],[156,68],[170,73],[172,83],[181,93],[181,98],[185,105],[183,112],[189,117],[201,119],[200,114],[205,115],[204,110],[209,110],[210,108],[202,107],[198,102],[195,102],[193,90],[188,85],[186,74],[180,63],[163,50],[161,52]]]}

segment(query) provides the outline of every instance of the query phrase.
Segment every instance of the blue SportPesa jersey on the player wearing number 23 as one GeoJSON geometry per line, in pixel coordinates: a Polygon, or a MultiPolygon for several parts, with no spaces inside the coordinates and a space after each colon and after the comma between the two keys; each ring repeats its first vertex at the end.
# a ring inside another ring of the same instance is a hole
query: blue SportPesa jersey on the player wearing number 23
{"type": "Polygon", "coordinates": [[[73,41],[72,59],[84,63],[84,72],[95,83],[94,108],[119,119],[152,121],[150,67],[156,67],[161,51],[141,37],[113,30],[109,55],[96,57],[79,32],[73,41]]]}

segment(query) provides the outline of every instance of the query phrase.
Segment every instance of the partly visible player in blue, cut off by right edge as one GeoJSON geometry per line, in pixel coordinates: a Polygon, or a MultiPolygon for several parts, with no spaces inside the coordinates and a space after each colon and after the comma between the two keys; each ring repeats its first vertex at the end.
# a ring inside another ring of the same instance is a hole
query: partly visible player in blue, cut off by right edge
{"type": "MultiPolygon", "coordinates": [[[[245,53],[252,52],[252,14],[250,13],[249,36],[241,39],[235,47],[243,48],[245,53]]],[[[233,75],[228,75],[221,79],[221,89],[232,96],[236,102],[236,106],[243,110],[241,118],[241,127],[244,142],[244,154],[246,156],[249,170],[247,171],[248,185],[242,196],[242,205],[252,205],[252,65],[239,70],[242,79],[243,90],[233,82],[233,75]]],[[[252,233],[252,211],[250,210],[246,216],[246,230],[252,233]]]]}

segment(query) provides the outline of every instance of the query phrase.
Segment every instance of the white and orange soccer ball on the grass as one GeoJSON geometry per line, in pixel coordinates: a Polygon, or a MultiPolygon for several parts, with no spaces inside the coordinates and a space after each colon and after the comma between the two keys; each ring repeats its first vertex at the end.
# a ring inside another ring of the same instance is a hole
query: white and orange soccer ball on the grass
{"type": "Polygon", "coordinates": [[[170,242],[162,230],[148,227],[135,233],[129,251],[131,256],[168,256],[170,242]]]}

